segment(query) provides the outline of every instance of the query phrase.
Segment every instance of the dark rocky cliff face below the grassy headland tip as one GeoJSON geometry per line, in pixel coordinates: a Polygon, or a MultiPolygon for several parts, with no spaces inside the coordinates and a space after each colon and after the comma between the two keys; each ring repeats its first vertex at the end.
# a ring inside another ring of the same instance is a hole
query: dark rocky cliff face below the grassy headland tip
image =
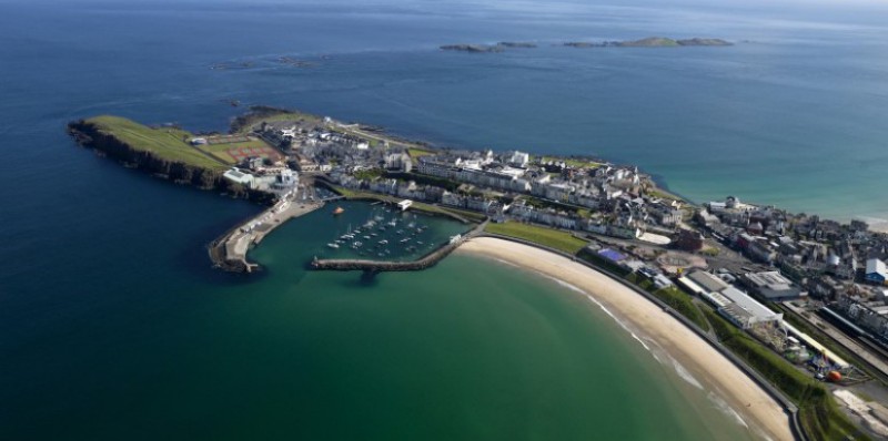
{"type": "MultiPolygon", "coordinates": [[[[188,154],[182,154],[179,158],[170,157],[169,154],[128,142],[120,133],[115,132],[114,129],[120,129],[120,126],[115,127],[109,124],[113,122],[153,130],[125,119],[100,116],[72,121],[68,124],[67,131],[78,145],[92,148],[103,156],[122,163],[127,167],[138,168],[178,184],[192,185],[202,189],[221,191],[236,198],[246,198],[260,203],[272,201],[271,195],[266,193],[252,191],[223,178],[222,174],[226,167],[222,164],[213,164],[206,160],[201,162],[196,156],[189,156],[188,154]]],[[[184,142],[181,142],[181,144],[183,152],[188,152],[184,150],[190,148],[188,144],[184,142]]]]}

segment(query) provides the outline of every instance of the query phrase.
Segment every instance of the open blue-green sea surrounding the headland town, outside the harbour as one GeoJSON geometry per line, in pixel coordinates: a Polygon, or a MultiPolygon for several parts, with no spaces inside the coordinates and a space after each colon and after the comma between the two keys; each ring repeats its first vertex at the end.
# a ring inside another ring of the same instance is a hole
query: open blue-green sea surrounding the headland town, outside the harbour
{"type": "Polygon", "coordinates": [[[695,202],[888,218],[888,7],[713,3],[0,0],[0,439],[758,438],[702,372],[501,263],[311,271],[352,227],[322,209],[253,249],[261,274],[216,271],[205,245],[261,207],[64,133],[224,131],[269,104],[636,164],[695,202]],[[649,35],[736,44],[561,44],[649,35]],[[537,48],[437,49],[498,41],[537,48]]]}

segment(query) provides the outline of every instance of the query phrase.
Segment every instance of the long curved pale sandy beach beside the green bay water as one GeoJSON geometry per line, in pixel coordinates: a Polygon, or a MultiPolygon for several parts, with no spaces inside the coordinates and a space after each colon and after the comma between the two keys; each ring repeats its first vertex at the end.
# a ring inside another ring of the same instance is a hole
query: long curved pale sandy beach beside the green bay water
{"type": "Polygon", "coordinates": [[[708,342],[626,286],[565,257],[508,240],[473,238],[457,253],[500,259],[573,285],[633,324],[771,440],[793,440],[783,408],[708,342]]]}

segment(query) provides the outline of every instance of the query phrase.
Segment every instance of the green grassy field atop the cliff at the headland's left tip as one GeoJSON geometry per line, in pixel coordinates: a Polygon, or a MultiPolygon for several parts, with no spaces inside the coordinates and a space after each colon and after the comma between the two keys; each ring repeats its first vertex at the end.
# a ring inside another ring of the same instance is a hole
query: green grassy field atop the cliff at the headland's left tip
{"type": "Polygon", "coordinates": [[[109,115],[91,117],[87,122],[135,150],[151,152],[163,160],[211,170],[228,168],[225,164],[189,145],[188,140],[193,135],[183,130],[151,129],[125,117],[109,115]]]}

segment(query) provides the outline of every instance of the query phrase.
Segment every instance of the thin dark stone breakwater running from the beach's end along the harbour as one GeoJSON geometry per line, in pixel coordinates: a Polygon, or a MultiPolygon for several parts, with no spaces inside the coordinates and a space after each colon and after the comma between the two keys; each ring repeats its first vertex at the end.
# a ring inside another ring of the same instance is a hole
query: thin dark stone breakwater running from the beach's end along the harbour
{"type": "Polygon", "coordinates": [[[316,270],[333,270],[333,271],[364,271],[364,273],[383,273],[383,271],[418,271],[435,266],[441,259],[447,257],[460,245],[464,244],[472,237],[484,232],[490,219],[484,221],[471,232],[451,240],[441,248],[411,261],[386,261],[386,260],[370,260],[370,259],[319,259],[312,260],[311,268],[316,270]]]}

